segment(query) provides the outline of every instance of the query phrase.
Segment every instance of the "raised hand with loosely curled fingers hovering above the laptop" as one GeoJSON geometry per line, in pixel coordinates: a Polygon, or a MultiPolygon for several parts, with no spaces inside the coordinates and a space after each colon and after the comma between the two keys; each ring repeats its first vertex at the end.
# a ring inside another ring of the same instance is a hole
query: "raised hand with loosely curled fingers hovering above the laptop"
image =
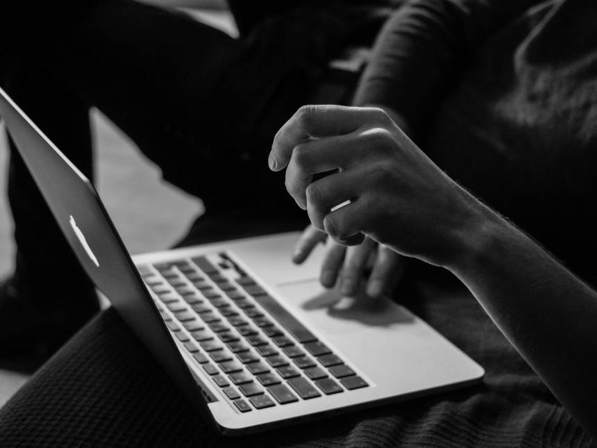
{"type": "Polygon", "coordinates": [[[476,199],[379,108],[300,108],[276,134],[269,165],[287,167],[288,192],[314,228],[339,244],[360,244],[367,235],[444,265],[466,244],[467,226],[478,222],[476,199]]]}

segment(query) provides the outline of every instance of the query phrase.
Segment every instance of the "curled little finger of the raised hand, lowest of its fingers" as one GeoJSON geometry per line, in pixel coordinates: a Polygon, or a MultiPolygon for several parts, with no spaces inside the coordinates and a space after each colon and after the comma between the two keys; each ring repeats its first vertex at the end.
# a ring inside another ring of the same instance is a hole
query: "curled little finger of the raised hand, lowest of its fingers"
{"type": "Polygon", "coordinates": [[[351,204],[328,213],[323,218],[323,230],[338,244],[355,246],[364,240],[369,214],[367,204],[358,197],[351,204]]]}

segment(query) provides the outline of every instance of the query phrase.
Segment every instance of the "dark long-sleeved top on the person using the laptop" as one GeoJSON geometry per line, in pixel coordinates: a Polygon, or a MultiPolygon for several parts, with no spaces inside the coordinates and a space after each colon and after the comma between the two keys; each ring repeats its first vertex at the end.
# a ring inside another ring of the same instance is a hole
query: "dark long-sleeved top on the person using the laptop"
{"type": "Polygon", "coordinates": [[[402,113],[439,167],[594,284],[596,23],[591,0],[414,1],[356,98],[402,113]]]}

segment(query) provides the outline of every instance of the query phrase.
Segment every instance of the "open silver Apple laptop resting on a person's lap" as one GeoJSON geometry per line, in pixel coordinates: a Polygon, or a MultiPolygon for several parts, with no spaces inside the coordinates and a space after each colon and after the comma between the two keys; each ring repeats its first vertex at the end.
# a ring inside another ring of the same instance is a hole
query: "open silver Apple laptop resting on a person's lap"
{"type": "Polygon", "coordinates": [[[299,233],[131,256],[88,179],[0,89],[0,115],[81,265],[183,395],[228,435],[482,379],[482,367],[389,299],[318,281],[299,233]]]}

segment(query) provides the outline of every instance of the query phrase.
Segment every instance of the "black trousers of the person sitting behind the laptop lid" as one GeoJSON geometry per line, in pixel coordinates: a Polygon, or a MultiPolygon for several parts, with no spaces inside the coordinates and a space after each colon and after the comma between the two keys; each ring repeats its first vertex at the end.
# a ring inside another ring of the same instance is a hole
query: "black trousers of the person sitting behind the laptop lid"
{"type": "MultiPolygon", "coordinates": [[[[267,154],[276,130],[313,101],[337,39],[314,58],[301,50],[310,34],[285,35],[280,22],[269,18],[235,40],[179,13],[107,1],[22,60],[6,90],[90,179],[96,106],[208,213],[298,213],[267,154]]],[[[12,142],[8,194],[17,272],[45,289],[58,276],[78,292],[90,288],[12,142]]]]}

